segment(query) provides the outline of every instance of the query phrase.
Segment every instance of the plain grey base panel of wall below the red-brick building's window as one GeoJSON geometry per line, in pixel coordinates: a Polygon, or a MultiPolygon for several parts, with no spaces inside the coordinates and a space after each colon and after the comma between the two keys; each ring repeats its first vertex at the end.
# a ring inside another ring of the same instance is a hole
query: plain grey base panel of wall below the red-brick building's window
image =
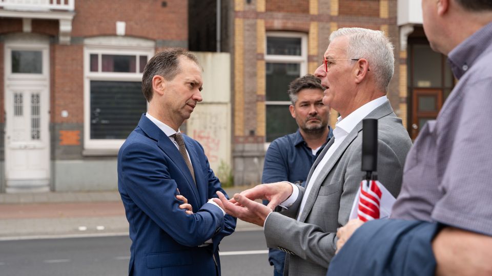
{"type": "Polygon", "coordinates": [[[111,191],[118,189],[116,157],[104,160],[55,160],[54,190],[111,191]]]}

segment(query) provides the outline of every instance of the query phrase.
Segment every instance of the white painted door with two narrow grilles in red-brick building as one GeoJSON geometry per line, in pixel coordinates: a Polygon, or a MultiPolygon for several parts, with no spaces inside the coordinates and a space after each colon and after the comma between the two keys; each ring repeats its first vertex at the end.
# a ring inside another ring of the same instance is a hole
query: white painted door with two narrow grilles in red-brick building
{"type": "Polygon", "coordinates": [[[5,44],[7,192],[49,191],[49,44],[5,44]]]}

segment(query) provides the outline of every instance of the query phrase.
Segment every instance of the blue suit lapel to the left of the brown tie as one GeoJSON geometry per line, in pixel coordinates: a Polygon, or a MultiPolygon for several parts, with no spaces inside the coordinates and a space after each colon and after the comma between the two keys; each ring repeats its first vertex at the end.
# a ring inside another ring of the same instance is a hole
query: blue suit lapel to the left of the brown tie
{"type": "MultiPolygon", "coordinates": [[[[179,153],[179,150],[176,148],[174,143],[169,139],[168,136],[162,130],[160,130],[152,121],[149,120],[145,116],[145,114],[140,119],[138,126],[153,140],[157,141],[157,146],[171,159],[171,161],[179,168],[183,176],[187,179],[188,185],[190,189],[193,191],[196,202],[200,202],[198,191],[196,189],[196,185],[191,176],[190,170],[185,163],[185,159],[179,153]]],[[[185,143],[186,144],[186,143],[185,143]]],[[[187,146],[188,148],[188,146],[187,146]]],[[[190,151],[188,151],[190,152],[190,151]]],[[[193,162],[193,158],[192,162],[193,162]]]]}

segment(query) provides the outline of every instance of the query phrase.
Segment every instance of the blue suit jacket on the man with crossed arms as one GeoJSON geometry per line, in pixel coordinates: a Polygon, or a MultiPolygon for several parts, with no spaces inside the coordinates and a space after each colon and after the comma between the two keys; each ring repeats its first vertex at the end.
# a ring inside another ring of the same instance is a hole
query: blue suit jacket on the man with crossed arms
{"type": "Polygon", "coordinates": [[[118,153],[118,190],[130,224],[130,275],[216,275],[213,255],[235,218],[207,203],[225,192],[201,145],[183,135],[196,186],[173,142],[145,114],[118,153]],[[179,209],[177,190],[193,206],[179,209]],[[199,246],[212,239],[213,245],[199,246]]]}

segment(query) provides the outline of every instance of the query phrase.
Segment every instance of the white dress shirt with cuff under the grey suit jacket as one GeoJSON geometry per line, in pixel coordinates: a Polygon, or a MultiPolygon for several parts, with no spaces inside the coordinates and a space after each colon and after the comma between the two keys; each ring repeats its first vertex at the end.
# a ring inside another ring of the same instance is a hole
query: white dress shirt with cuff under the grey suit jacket
{"type": "MultiPolygon", "coordinates": [[[[299,207],[299,213],[297,215],[297,220],[301,217],[302,211],[304,210],[304,205],[306,204],[306,201],[308,200],[309,193],[313,187],[312,182],[314,182],[318,176],[321,170],[323,169],[324,165],[328,162],[330,157],[333,155],[335,150],[340,146],[340,144],[345,140],[347,137],[348,133],[350,133],[355,126],[362,121],[369,113],[371,113],[374,109],[379,107],[380,105],[384,104],[388,99],[386,96],[377,98],[375,100],[372,100],[363,106],[357,108],[355,111],[352,113],[348,114],[347,117],[342,118],[338,117],[337,123],[335,124],[335,129],[333,130],[333,139],[334,143],[332,146],[326,151],[325,155],[323,158],[320,160],[316,168],[314,169],[313,174],[311,175],[311,178],[309,181],[306,183],[306,189],[304,191],[304,196],[302,197],[301,205],[299,207]]],[[[361,153],[362,154],[362,153],[361,153]]],[[[293,192],[292,195],[283,201],[280,205],[284,208],[288,208],[289,206],[292,205],[297,200],[297,197],[299,196],[299,191],[296,185],[292,184],[293,192]]],[[[267,217],[268,219],[268,217],[267,217]]],[[[265,220],[266,221],[266,220],[265,220]]]]}

